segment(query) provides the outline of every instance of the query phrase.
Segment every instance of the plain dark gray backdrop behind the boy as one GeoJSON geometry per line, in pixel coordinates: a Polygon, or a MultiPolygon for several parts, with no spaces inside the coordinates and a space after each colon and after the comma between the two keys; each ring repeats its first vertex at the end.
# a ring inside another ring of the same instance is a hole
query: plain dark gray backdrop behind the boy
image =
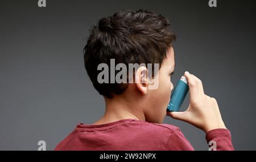
{"type": "MultiPolygon", "coordinates": [[[[77,123],[104,114],[104,99],[84,69],[88,28],[102,16],[139,8],[166,16],[177,34],[176,74],[185,70],[215,97],[236,150],[255,143],[255,3],[220,1],[0,1],[0,150],[53,150],[77,123]]],[[[188,106],[188,97],[183,110],[188,106]]],[[[207,150],[205,134],[181,121],[196,150],[207,150]]]]}

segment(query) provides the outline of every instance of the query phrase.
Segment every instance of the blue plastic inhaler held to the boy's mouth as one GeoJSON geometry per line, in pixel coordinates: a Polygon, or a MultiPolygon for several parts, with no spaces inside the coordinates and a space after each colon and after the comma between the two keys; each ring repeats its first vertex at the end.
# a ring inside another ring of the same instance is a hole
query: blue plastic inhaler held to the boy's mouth
{"type": "Polygon", "coordinates": [[[171,95],[170,103],[167,106],[167,112],[179,112],[187,93],[188,93],[188,81],[185,76],[181,76],[179,82],[171,95]]]}

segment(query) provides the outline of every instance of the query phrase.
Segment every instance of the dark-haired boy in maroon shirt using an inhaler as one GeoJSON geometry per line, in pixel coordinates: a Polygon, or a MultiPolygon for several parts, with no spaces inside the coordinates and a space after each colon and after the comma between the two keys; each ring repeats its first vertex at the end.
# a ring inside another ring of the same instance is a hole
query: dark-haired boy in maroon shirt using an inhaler
{"type": "Polygon", "coordinates": [[[91,125],[77,125],[55,150],[193,150],[179,127],[163,124],[166,115],[205,131],[207,142],[216,144],[213,150],[233,150],[217,101],[204,94],[195,75],[184,73],[189,84],[188,109],[166,112],[175,69],[172,43],[176,36],[169,25],[162,15],[144,10],[119,11],[94,25],[84,48],[84,61],[94,88],[104,96],[105,114],[91,125]],[[110,67],[110,59],[126,67],[129,63],[156,63],[159,67],[156,73],[148,66],[129,71],[132,75],[127,75],[127,80],[134,81],[131,83],[99,82],[102,69],[98,65],[110,67]],[[153,79],[148,77],[150,73],[153,79]],[[158,82],[157,88],[150,88],[152,80],[158,82]]]}

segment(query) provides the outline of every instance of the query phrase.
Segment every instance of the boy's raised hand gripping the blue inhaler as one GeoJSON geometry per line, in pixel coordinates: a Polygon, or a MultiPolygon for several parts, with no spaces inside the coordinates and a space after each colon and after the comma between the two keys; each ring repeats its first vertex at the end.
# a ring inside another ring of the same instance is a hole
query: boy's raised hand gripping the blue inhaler
{"type": "Polygon", "coordinates": [[[191,123],[205,133],[213,129],[226,129],[216,99],[205,95],[201,80],[188,71],[184,76],[189,85],[188,109],[185,112],[167,112],[167,115],[191,123]]]}

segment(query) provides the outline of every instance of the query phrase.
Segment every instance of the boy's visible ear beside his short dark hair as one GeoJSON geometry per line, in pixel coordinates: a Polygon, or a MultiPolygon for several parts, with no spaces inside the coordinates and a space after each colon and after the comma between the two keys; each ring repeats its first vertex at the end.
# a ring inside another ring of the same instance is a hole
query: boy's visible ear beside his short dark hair
{"type": "Polygon", "coordinates": [[[135,73],[135,84],[139,91],[143,94],[147,94],[148,89],[148,79],[147,79],[147,67],[141,66],[135,73]]]}

